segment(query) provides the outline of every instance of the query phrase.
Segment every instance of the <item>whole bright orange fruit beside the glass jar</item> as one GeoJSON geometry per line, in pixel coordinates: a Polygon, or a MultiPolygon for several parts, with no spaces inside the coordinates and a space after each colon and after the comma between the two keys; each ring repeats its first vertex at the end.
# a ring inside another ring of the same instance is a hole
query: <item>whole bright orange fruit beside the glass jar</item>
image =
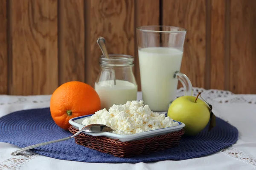
{"type": "Polygon", "coordinates": [[[69,120],[100,110],[100,98],[92,86],[79,81],[70,81],[59,86],[52,94],[50,111],[55,123],[64,130],[69,120]]]}

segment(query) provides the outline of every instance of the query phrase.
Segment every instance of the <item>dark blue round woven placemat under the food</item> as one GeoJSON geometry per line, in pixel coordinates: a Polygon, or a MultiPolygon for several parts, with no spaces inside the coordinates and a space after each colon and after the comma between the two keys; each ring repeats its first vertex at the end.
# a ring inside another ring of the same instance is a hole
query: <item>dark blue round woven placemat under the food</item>
{"type": "MultiPolygon", "coordinates": [[[[40,155],[70,161],[137,163],[198,158],[231,146],[238,139],[236,127],[220,118],[216,118],[216,127],[209,133],[207,128],[208,126],[195,137],[183,136],[178,147],[131,158],[119,158],[78,145],[74,138],[37,147],[32,151],[40,155]]],[[[27,147],[70,135],[72,133],[62,130],[55,124],[49,108],[22,110],[0,118],[0,142],[15,144],[19,147],[27,147]]]]}

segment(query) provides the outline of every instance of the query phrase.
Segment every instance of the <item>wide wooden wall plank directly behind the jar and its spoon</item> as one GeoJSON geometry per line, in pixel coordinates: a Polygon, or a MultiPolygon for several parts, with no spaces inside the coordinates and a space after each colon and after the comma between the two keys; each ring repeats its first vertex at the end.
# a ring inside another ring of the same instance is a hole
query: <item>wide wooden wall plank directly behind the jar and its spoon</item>
{"type": "Polygon", "coordinates": [[[134,56],[133,0],[90,0],[90,55],[87,55],[90,59],[86,63],[86,82],[93,87],[102,55],[96,43],[99,36],[105,37],[109,54],[134,56]]]}

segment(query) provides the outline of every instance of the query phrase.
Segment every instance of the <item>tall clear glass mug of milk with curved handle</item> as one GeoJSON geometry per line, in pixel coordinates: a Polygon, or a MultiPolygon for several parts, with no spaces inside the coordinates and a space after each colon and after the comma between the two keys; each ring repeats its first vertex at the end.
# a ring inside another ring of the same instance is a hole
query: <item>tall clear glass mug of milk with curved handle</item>
{"type": "Polygon", "coordinates": [[[166,112],[176,98],[180,81],[185,95],[192,94],[189,78],[180,72],[186,29],[174,26],[140,26],[137,45],[144,104],[166,112]]]}

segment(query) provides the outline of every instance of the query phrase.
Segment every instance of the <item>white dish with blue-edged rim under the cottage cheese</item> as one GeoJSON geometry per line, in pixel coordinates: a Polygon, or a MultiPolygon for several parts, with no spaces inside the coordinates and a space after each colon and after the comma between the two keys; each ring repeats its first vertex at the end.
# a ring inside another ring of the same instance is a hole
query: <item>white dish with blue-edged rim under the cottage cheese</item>
{"type": "MultiPolygon", "coordinates": [[[[84,118],[90,118],[90,116],[92,115],[84,115],[84,116],[72,118],[69,120],[69,123],[76,129],[81,130],[84,127],[84,125],[82,124],[82,121],[84,120],[84,118]]],[[[119,141],[122,141],[122,142],[135,141],[143,138],[151,138],[157,135],[165,135],[167,133],[177,132],[181,130],[183,127],[185,127],[185,124],[183,124],[182,122],[180,121],[177,121],[177,122],[179,123],[179,125],[174,127],[166,127],[166,128],[157,129],[157,130],[150,130],[142,133],[135,133],[132,135],[120,135],[120,134],[110,133],[110,132],[101,132],[101,133],[84,132],[84,133],[92,136],[105,136],[108,138],[118,139],[119,141]]]]}

